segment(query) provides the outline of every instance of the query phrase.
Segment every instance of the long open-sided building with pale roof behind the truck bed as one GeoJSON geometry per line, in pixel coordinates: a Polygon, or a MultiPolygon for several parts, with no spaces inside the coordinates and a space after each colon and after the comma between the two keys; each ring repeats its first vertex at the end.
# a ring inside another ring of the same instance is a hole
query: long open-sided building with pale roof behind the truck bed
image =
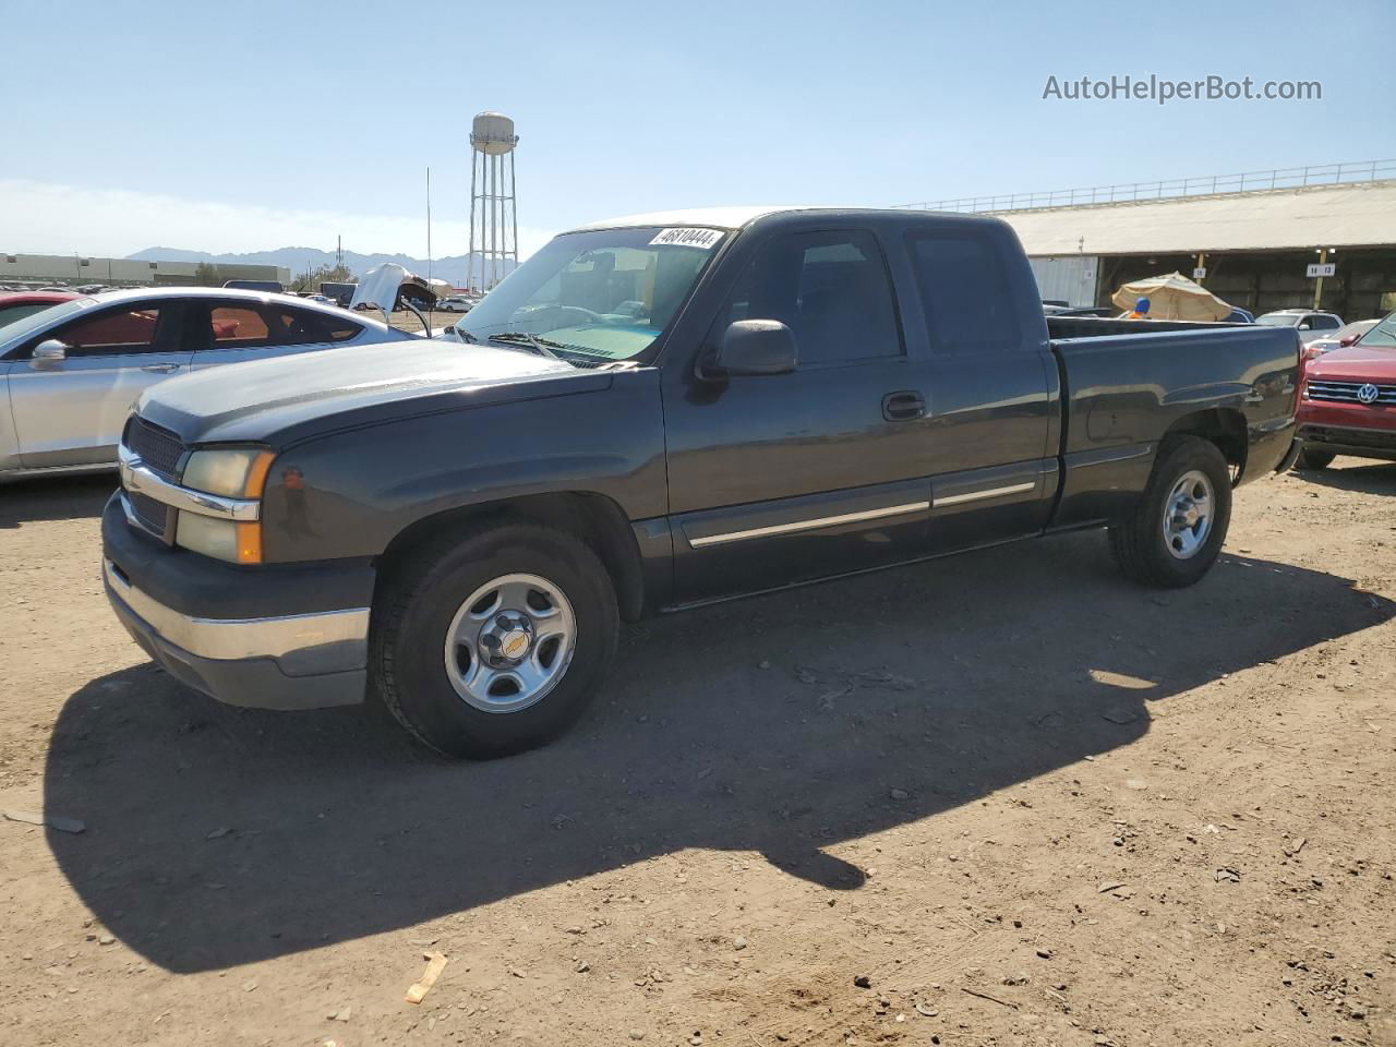
{"type": "Polygon", "coordinates": [[[916,207],[1002,218],[1041,297],[1072,306],[1107,306],[1120,285],[1177,271],[1256,314],[1396,309],[1396,161],[916,207]]]}

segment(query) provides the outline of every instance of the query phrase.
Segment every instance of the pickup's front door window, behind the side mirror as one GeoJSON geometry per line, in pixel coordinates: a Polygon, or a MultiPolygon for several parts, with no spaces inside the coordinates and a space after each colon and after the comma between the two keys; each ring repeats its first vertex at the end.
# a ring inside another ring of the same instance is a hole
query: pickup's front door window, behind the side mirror
{"type": "Polygon", "coordinates": [[[863,230],[792,233],[762,246],[713,335],[737,320],[783,322],[794,332],[801,366],[902,355],[886,264],[863,230]]]}

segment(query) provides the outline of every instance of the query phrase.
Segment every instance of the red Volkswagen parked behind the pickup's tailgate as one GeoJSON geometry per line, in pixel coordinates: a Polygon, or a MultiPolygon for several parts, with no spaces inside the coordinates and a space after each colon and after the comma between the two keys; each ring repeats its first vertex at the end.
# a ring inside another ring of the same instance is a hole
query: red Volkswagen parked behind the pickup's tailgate
{"type": "Polygon", "coordinates": [[[1300,399],[1301,469],[1335,455],[1396,462],[1396,313],[1356,345],[1309,360],[1300,399]]]}

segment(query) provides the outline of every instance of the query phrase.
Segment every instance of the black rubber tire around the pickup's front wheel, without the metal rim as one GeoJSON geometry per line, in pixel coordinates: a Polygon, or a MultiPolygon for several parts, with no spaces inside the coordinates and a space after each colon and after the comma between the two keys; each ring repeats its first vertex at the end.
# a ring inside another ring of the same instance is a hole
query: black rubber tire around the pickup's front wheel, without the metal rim
{"type": "Polygon", "coordinates": [[[616,591],[596,554],[572,535],[533,524],[482,526],[423,549],[387,581],[374,606],[369,671],[384,705],[424,745],[489,759],[561,734],[586,709],[610,669],[620,634],[616,591]],[[571,662],[533,705],[487,712],[447,676],[445,644],[462,603],[491,579],[537,575],[575,617],[571,662]]]}

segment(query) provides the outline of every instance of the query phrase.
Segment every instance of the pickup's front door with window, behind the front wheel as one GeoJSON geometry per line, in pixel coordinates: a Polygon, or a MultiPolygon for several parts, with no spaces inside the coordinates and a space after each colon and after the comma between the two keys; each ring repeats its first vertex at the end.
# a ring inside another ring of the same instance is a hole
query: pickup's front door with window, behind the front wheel
{"type": "Polygon", "coordinates": [[[678,603],[920,551],[926,360],[906,352],[885,246],[831,225],[757,240],[699,349],[737,320],[779,320],[796,338],[794,373],[712,383],[664,362],[678,603]]]}

